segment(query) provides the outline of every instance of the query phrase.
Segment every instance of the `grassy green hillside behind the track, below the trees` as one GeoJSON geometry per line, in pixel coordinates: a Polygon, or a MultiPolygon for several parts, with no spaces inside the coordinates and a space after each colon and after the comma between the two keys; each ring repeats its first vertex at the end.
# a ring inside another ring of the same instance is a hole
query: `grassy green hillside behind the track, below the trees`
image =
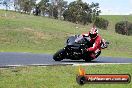
{"type": "MultiPolygon", "coordinates": [[[[111,44],[102,56],[132,57],[132,36],[114,32],[114,25],[124,17],[103,16],[110,21],[108,31],[99,30],[111,44]]],[[[37,17],[10,11],[0,11],[0,52],[55,53],[65,46],[70,35],[86,33],[91,25],[83,26],[66,21],[37,17]],[[5,15],[6,13],[6,15],[5,15]],[[78,29],[76,28],[78,27],[78,29]]]]}

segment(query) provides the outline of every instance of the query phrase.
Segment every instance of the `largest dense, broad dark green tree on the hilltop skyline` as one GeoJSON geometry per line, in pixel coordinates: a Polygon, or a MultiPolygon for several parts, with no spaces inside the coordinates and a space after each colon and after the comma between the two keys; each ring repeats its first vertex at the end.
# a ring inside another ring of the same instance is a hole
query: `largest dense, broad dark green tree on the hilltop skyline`
{"type": "Polygon", "coordinates": [[[77,0],[68,5],[68,9],[63,13],[64,20],[74,23],[87,24],[95,21],[96,16],[101,12],[98,10],[99,3],[92,3],[91,5],[77,0]]]}

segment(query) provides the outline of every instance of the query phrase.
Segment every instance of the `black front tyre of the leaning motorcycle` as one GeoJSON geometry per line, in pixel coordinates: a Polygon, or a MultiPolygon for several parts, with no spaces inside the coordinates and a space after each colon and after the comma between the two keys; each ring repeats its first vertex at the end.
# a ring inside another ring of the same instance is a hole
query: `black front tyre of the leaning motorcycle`
{"type": "Polygon", "coordinates": [[[55,61],[61,61],[65,58],[65,50],[61,49],[59,51],[57,51],[54,55],[53,55],[53,59],[55,61]]]}

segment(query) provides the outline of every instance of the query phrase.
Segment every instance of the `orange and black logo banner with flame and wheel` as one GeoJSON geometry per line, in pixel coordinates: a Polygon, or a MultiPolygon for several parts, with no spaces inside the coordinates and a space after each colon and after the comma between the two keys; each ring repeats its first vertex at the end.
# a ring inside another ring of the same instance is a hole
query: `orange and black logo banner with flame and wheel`
{"type": "Polygon", "coordinates": [[[79,74],[76,77],[78,84],[86,83],[130,83],[129,74],[86,74],[85,70],[79,67],[79,74]]]}

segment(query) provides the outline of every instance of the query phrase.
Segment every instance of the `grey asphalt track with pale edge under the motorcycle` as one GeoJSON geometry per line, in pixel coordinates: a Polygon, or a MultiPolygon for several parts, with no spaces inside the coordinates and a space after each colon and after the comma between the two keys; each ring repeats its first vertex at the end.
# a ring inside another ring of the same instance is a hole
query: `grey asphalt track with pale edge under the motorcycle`
{"type": "Polygon", "coordinates": [[[98,57],[92,62],[83,60],[62,60],[56,62],[50,54],[32,54],[32,53],[15,53],[1,52],[0,67],[4,66],[21,66],[21,65],[73,65],[73,64],[97,64],[97,63],[132,63],[132,58],[113,58],[113,57],[98,57]]]}

